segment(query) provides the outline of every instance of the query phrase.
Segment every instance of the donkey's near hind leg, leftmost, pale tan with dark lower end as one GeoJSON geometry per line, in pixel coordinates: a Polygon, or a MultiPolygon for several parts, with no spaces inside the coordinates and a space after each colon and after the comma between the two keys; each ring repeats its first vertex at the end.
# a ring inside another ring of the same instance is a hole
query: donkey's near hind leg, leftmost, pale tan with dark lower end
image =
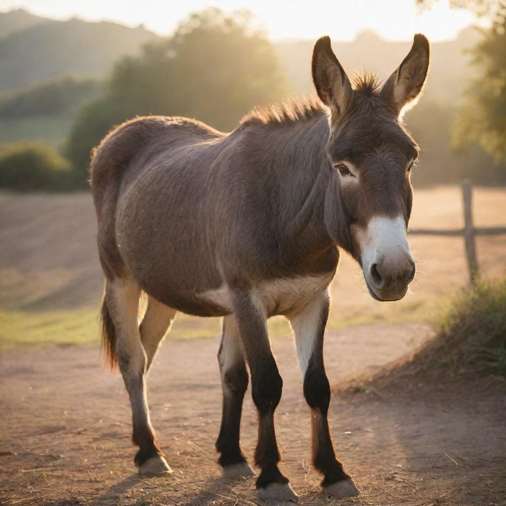
{"type": "Polygon", "coordinates": [[[139,474],[172,473],[155,441],[146,398],[147,357],[141,343],[138,309],[141,290],[135,281],[108,280],[105,304],[116,332],[116,354],[119,370],[132,405],[132,441],[139,446],[135,463],[139,474]]]}

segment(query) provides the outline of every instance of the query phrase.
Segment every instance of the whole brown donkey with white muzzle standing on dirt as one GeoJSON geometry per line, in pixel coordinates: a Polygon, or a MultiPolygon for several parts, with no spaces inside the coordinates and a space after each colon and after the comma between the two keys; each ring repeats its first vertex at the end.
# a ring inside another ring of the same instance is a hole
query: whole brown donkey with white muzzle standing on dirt
{"type": "Polygon", "coordinates": [[[328,286],[340,250],[361,266],[378,301],[401,299],[413,280],[406,230],[419,150],[402,113],[423,91],[429,52],[427,38],[417,34],[383,86],[367,74],[352,86],[322,37],[312,56],[321,102],[265,106],[229,134],[182,117],[140,117],[96,148],[91,187],[106,277],[103,344],[130,396],[139,474],[172,472],[146,399],[163,336],[177,311],[221,316],[218,463],[228,478],[255,475],[239,445],[249,369],[259,496],[296,497],[278,468],[274,411],[282,379],[266,326],[269,317],[284,315],[310,408],[313,466],[326,494],[358,495],[336,458],[327,420],[328,286]],[[139,325],[141,291],[148,305],[139,325]]]}

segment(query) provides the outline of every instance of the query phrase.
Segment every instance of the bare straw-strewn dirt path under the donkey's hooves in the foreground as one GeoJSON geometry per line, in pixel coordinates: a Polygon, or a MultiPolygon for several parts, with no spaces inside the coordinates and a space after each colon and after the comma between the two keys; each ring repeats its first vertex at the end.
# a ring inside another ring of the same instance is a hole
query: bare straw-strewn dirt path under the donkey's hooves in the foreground
{"type": "MultiPolygon", "coordinates": [[[[419,324],[329,332],[331,383],[398,357],[428,333],[419,324]]],[[[302,504],[327,503],[309,466],[309,419],[293,344],[280,338],[273,348],[284,379],[277,410],[283,468],[302,504]]],[[[259,503],[254,481],[222,479],[215,463],[217,349],[218,338],[162,347],[149,378],[149,401],[175,474],[150,480],[134,474],[127,396],[120,376],[100,367],[96,348],[6,352],[0,367],[0,503],[259,503]]],[[[419,397],[334,394],[334,442],[362,491],[340,504],[506,504],[504,396],[480,391],[476,385],[419,397]]],[[[247,394],[242,447],[249,459],[255,439],[247,394]]]]}

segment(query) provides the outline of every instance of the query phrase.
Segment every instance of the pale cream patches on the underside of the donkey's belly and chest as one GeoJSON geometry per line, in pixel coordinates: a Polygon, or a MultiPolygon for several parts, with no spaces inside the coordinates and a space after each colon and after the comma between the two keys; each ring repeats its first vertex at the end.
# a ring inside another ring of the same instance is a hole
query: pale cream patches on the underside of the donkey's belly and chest
{"type": "MultiPolygon", "coordinates": [[[[328,272],[262,281],[251,290],[251,295],[262,304],[267,316],[288,314],[324,290],[333,275],[333,272],[328,272]]],[[[216,290],[201,292],[198,297],[225,308],[228,313],[232,312],[232,292],[226,284],[216,290]]]]}

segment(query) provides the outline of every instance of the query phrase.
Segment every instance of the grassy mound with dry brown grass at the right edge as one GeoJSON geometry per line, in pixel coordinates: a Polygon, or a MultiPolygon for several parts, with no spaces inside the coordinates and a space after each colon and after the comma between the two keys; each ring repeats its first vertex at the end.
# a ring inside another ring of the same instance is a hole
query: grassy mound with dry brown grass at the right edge
{"type": "Polygon", "coordinates": [[[374,374],[361,372],[345,389],[436,385],[448,377],[506,378],[506,277],[479,281],[448,300],[434,323],[435,336],[374,374]]]}

